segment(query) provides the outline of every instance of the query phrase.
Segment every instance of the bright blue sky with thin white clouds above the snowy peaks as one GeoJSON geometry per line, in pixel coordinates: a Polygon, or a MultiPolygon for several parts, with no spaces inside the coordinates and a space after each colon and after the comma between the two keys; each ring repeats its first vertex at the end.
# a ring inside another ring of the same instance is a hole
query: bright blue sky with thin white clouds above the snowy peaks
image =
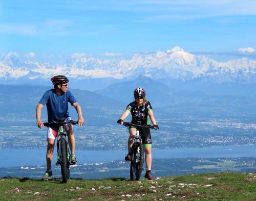
{"type": "Polygon", "coordinates": [[[0,56],[130,58],[180,46],[217,60],[256,60],[256,1],[0,2],[0,56]]]}

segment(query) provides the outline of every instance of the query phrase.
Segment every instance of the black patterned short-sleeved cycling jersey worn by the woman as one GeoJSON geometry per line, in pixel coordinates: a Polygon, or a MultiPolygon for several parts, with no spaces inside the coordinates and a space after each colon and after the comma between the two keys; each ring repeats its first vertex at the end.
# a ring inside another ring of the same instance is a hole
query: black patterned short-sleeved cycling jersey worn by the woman
{"type": "Polygon", "coordinates": [[[131,123],[137,124],[138,121],[141,121],[142,125],[150,124],[150,121],[147,115],[148,111],[153,110],[150,102],[147,101],[145,103],[145,107],[143,105],[138,107],[137,103],[134,101],[126,107],[126,110],[129,110],[132,114],[131,123]]]}

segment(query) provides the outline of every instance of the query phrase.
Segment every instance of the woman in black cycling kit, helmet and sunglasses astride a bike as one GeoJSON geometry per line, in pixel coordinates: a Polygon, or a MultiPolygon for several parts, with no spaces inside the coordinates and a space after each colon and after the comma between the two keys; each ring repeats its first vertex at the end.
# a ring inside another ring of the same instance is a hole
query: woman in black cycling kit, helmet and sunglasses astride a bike
{"type": "MultiPolygon", "coordinates": [[[[125,112],[121,115],[120,119],[117,121],[120,124],[123,124],[123,120],[132,113],[132,121],[131,123],[137,124],[138,121],[141,121],[142,125],[150,124],[148,117],[150,117],[151,122],[153,123],[154,129],[158,129],[158,125],[156,123],[153,109],[150,102],[147,101],[146,91],[143,88],[137,88],[134,90],[134,98],[135,101],[130,103],[127,107],[125,112]]],[[[133,145],[133,137],[136,135],[136,127],[129,128],[129,139],[128,139],[128,151],[129,153],[125,156],[125,161],[131,161],[132,155],[132,145],[133,145]]],[[[154,180],[152,173],[151,173],[151,164],[152,164],[152,155],[151,155],[151,133],[150,128],[143,128],[141,130],[141,138],[144,147],[144,152],[146,154],[145,161],[147,171],[145,174],[145,178],[148,180],[154,180]]]]}

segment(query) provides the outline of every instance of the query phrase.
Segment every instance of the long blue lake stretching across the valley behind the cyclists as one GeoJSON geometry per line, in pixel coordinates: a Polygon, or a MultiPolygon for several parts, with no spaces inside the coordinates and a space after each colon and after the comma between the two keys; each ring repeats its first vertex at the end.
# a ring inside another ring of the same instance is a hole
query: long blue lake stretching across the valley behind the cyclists
{"type": "MultiPolygon", "coordinates": [[[[36,166],[46,165],[46,149],[0,149],[2,160],[0,167],[36,166]]],[[[54,152],[56,157],[56,150],[54,152]]],[[[100,163],[115,160],[124,160],[125,150],[77,150],[78,164],[100,163]]],[[[213,146],[204,148],[178,148],[178,149],[153,149],[155,159],[162,158],[220,158],[220,157],[254,157],[256,158],[256,145],[241,146],[213,146]]],[[[53,164],[56,158],[53,159],[53,164]]]]}

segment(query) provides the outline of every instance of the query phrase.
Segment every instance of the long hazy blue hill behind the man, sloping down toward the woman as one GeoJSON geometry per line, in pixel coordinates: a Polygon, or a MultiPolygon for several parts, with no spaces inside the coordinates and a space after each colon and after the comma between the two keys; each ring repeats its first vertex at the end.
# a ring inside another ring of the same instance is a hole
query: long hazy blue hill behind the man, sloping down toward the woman
{"type": "MultiPolygon", "coordinates": [[[[34,124],[35,108],[41,96],[52,87],[44,86],[12,86],[0,85],[0,125],[9,122],[34,124]]],[[[115,122],[118,114],[124,108],[124,104],[114,101],[94,92],[69,89],[81,105],[83,116],[87,124],[106,124],[115,122]]],[[[77,119],[75,109],[69,105],[69,111],[73,119],[77,119]]],[[[42,118],[47,120],[46,106],[42,112],[42,118]]]]}

